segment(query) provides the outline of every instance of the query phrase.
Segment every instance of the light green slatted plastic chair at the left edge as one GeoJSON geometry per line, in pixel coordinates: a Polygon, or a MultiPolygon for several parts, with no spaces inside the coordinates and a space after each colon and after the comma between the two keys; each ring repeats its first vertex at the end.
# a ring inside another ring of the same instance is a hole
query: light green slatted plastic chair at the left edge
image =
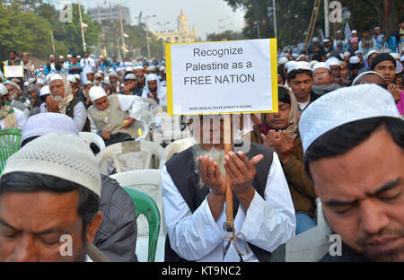
{"type": "Polygon", "coordinates": [[[7,159],[20,149],[22,129],[0,129],[0,174],[7,159]]]}

